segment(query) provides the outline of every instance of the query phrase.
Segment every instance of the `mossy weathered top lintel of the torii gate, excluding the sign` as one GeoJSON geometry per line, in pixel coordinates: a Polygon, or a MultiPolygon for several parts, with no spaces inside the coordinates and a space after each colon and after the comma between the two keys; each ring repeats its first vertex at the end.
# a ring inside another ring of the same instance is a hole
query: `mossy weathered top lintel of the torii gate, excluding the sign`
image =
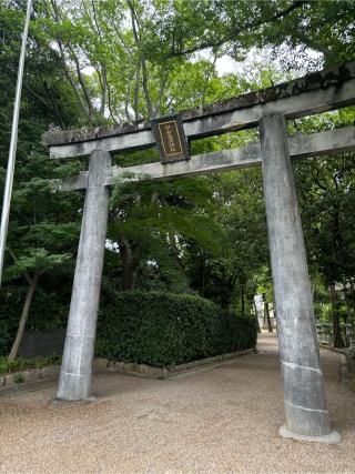
{"type": "MultiPolygon", "coordinates": [[[[181,113],[189,140],[257,127],[261,118],[280,112],[286,119],[316,114],[355,103],[355,60],[264,90],[195,108],[181,113]]],[[[47,132],[50,157],[89,155],[93,150],[112,153],[155,145],[149,121],[90,130],[47,132]]]]}

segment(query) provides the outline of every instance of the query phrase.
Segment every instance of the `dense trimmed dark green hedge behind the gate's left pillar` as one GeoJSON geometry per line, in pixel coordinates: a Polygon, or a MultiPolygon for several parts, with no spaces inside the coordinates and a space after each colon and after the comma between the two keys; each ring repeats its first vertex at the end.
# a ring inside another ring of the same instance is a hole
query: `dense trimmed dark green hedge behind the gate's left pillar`
{"type": "Polygon", "coordinates": [[[163,367],[251,349],[256,336],[256,319],[200,296],[131,291],[100,316],[97,355],[163,367]]]}

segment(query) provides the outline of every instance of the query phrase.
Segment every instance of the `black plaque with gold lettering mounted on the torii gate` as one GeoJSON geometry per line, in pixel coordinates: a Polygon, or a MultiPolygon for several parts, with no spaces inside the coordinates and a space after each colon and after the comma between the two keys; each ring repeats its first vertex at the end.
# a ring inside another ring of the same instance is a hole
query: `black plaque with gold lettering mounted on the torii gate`
{"type": "Polygon", "coordinates": [[[152,129],[162,163],[189,160],[189,148],[180,117],[152,120],[152,129]]]}

